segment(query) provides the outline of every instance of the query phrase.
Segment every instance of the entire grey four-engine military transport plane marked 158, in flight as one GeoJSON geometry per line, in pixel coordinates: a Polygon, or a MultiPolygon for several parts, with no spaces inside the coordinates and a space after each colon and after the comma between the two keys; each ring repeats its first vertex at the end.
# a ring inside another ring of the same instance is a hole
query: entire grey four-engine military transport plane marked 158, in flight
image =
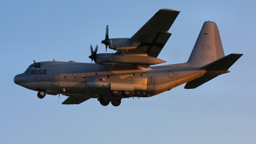
{"type": "Polygon", "coordinates": [[[206,21],[186,63],[161,65],[157,58],[171,36],[168,30],[179,12],[161,9],[131,38],[109,38],[106,50],[115,53],[97,54],[91,46],[89,58],[99,64],[75,61],[44,61],[29,65],[23,74],[14,77],[14,83],[38,92],[38,98],[48,95],[66,95],[62,104],[80,104],[95,98],[102,106],[119,106],[129,97],[152,97],[186,83],[186,89],[197,88],[214,77],[230,72],[243,54],[224,55],[218,28],[206,21]]]}

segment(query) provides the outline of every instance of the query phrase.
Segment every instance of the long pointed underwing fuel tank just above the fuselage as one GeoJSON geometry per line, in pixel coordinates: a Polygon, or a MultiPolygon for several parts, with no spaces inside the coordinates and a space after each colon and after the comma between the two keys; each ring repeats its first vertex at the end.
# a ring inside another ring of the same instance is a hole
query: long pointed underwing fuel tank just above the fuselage
{"type": "Polygon", "coordinates": [[[151,56],[112,56],[108,58],[113,63],[124,63],[134,65],[157,65],[159,63],[165,63],[166,61],[154,58],[151,56]]]}

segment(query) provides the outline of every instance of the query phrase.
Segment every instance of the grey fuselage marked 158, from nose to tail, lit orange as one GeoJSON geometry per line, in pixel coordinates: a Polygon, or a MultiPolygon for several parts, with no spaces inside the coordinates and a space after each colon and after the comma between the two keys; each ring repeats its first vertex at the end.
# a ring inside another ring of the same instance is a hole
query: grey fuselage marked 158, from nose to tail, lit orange
{"type": "Polygon", "coordinates": [[[132,97],[150,97],[205,72],[202,68],[189,67],[188,63],[143,68],[45,61],[31,64],[23,74],[15,76],[14,81],[30,90],[45,90],[48,94],[122,99],[113,97],[110,90],[131,91],[132,97]]]}

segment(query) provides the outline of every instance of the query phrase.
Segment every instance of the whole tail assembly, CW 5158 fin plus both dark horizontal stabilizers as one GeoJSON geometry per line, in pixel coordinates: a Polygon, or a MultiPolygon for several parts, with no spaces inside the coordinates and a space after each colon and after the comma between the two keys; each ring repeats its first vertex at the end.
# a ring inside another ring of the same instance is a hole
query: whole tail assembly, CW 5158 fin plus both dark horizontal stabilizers
{"type": "Polygon", "coordinates": [[[197,88],[221,74],[230,72],[228,68],[242,55],[229,54],[225,56],[217,25],[215,22],[204,22],[187,63],[192,67],[202,67],[207,72],[203,76],[189,81],[184,88],[197,88]]]}

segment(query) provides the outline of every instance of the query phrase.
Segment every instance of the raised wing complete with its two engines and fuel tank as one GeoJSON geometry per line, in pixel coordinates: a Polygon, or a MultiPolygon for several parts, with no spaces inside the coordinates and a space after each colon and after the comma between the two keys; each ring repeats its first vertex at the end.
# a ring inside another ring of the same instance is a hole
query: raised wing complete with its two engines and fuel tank
{"type": "Polygon", "coordinates": [[[157,58],[172,35],[168,30],[179,15],[171,9],[159,10],[131,38],[110,38],[109,49],[115,54],[96,54],[100,65],[149,67],[166,61],[157,58]]]}

